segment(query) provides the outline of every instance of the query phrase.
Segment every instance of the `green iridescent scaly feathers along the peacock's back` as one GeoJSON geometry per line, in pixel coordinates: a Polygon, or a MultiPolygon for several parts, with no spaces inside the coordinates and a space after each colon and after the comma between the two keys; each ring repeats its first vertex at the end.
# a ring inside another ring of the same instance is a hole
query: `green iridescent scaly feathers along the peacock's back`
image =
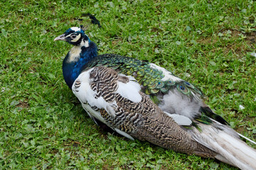
{"type": "MultiPolygon", "coordinates": [[[[137,79],[139,84],[144,86],[142,91],[150,95],[151,98],[154,98],[157,94],[166,94],[169,90],[175,88],[186,96],[193,96],[193,94],[202,95],[199,89],[186,81],[162,81],[161,79],[164,78],[164,73],[161,70],[151,68],[150,63],[147,61],[106,54],[98,55],[95,60],[86,64],[84,68],[90,69],[98,65],[111,67],[119,73],[133,76],[137,79]],[[193,92],[193,94],[191,92],[193,92]]],[[[158,102],[156,100],[153,101],[154,103],[158,102]]]]}

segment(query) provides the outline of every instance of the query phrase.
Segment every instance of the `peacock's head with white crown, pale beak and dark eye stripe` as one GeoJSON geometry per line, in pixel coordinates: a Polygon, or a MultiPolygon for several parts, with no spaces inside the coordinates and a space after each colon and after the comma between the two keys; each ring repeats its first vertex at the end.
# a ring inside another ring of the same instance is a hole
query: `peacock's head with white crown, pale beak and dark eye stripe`
{"type": "Polygon", "coordinates": [[[85,46],[85,47],[89,47],[89,42],[90,42],[89,37],[85,34],[85,31],[82,30],[82,26],[81,28],[79,27],[68,28],[68,30],[66,30],[65,33],[63,33],[62,35],[54,39],[54,41],[56,40],[63,40],[72,45],[85,46]]]}

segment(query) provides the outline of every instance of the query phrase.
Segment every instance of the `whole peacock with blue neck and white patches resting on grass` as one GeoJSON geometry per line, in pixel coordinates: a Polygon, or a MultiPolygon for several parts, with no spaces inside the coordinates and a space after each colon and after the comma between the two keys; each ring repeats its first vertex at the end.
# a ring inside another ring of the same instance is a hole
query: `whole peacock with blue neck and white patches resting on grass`
{"type": "Polygon", "coordinates": [[[79,27],[54,40],[73,45],[63,77],[97,125],[131,140],[256,169],[256,150],[213,113],[195,85],[148,61],[97,55],[97,45],[79,27]]]}

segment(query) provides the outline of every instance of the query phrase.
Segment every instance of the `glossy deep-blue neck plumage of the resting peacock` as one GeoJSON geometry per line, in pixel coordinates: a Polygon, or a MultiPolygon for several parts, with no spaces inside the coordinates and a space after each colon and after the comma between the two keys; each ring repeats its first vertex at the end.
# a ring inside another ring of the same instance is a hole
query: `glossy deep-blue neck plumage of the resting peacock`
{"type": "Polygon", "coordinates": [[[82,67],[97,56],[97,45],[95,42],[90,41],[89,47],[82,46],[80,49],[81,52],[79,56],[75,57],[75,60],[71,59],[70,52],[68,52],[68,55],[66,55],[63,60],[63,77],[70,89],[72,89],[75,79],[77,79],[82,72],[82,67]]]}

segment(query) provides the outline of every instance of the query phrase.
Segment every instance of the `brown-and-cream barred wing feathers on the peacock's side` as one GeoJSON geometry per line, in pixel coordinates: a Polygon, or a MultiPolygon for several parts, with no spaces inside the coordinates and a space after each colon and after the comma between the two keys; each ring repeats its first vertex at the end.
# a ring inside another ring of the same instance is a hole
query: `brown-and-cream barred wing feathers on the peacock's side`
{"type": "Polygon", "coordinates": [[[127,77],[107,67],[95,67],[90,72],[90,79],[90,86],[97,94],[95,98],[102,97],[108,103],[116,103],[113,107],[114,116],[100,109],[100,115],[111,128],[160,147],[202,157],[215,157],[215,152],[194,141],[186,130],[161,111],[146,94],[138,92],[142,96],[142,101],[138,103],[118,94],[118,82],[129,82],[127,77]]]}

